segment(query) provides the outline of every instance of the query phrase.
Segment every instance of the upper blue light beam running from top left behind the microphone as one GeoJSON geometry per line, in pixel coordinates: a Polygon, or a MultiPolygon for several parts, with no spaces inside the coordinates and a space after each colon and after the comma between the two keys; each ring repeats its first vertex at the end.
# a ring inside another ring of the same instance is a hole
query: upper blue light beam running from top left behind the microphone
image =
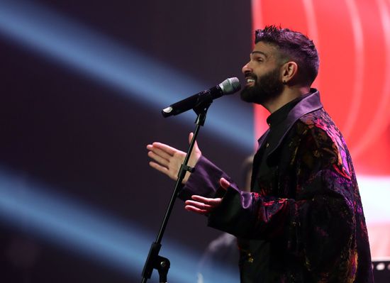
{"type": "MultiPolygon", "coordinates": [[[[0,1],[0,33],[157,109],[211,87],[30,1],[0,1]]],[[[218,100],[206,131],[252,152],[252,111],[235,102],[218,100]]],[[[182,120],[193,122],[195,116],[182,120]]]]}

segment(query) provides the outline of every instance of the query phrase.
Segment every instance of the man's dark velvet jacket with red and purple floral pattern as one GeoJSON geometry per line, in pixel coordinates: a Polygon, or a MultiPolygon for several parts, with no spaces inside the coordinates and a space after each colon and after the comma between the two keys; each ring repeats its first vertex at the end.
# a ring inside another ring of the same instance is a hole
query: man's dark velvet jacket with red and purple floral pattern
{"type": "Polygon", "coordinates": [[[255,159],[252,192],[234,183],[221,189],[219,179],[228,175],[202,156],[179,194],[223,196],[208,226],[239,238],[243,283],[373,282],[350,153],[318,91],[312,91],[279,123],[277,143],[262,157],[266,175],[255,159]]]}

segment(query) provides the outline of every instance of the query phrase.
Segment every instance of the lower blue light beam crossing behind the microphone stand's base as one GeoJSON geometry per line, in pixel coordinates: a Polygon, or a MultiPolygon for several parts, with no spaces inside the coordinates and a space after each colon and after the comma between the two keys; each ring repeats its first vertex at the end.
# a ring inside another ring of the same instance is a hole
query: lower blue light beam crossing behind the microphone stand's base
{"type": "MultiPolygon", "coordinates": [[[[149,232],[91,209],[42,184],[26,182],[0,170],[0,220],[52,243],[72,248],[127,274],[140,274],[152,236],[149,232]]],[[[176,243],[163,243],[162,255],[172,263],[169,279],[194,283],[199,255],[176,243]]],[[[153,272],[157,276],[157,272],[153,272]]],[[[216,275],[235,282],[228,270],[216,275]]]]}

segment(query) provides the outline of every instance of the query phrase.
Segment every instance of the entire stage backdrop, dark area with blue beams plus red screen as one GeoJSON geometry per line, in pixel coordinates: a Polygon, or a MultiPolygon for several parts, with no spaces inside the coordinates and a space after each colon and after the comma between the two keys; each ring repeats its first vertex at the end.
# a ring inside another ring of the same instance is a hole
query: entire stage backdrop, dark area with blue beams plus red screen
{"type": "MultiPolygon", "coordinates": [[[[191,111],[160,111],[243,79],[252,31],[267,23],[318,45],[316,87],[352,151],[372,248],[389,255],[389,18],[388,0],[1,0],[0,282],[140,282],[174,185],[145,147],[184,150],[194,130],[191,111]]],[[[266,116],[218,99],[202,152],[240,183],[266,116]]],[[[196,282],[218,235],[178,201],[161,251],[169,282],[196,282]]]]}

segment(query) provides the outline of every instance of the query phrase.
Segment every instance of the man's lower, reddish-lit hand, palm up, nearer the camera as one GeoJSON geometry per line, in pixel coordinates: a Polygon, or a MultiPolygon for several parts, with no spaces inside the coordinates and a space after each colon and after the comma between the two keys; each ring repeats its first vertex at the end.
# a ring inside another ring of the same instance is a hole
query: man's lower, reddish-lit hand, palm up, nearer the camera
{"type": "MultiPolygon", "coordinates": [[[[221,188],[228,189],[230,183],[225,178],[219,180],[221,188]]],[[[222,198],[207,198],[204,196],[191,196],[192,200],[186,201],[186,206],[184,208],[188,211],[193,211],[199,214],[207,215],[214,209],[216,209],[222,202],[222,198]]]]}

